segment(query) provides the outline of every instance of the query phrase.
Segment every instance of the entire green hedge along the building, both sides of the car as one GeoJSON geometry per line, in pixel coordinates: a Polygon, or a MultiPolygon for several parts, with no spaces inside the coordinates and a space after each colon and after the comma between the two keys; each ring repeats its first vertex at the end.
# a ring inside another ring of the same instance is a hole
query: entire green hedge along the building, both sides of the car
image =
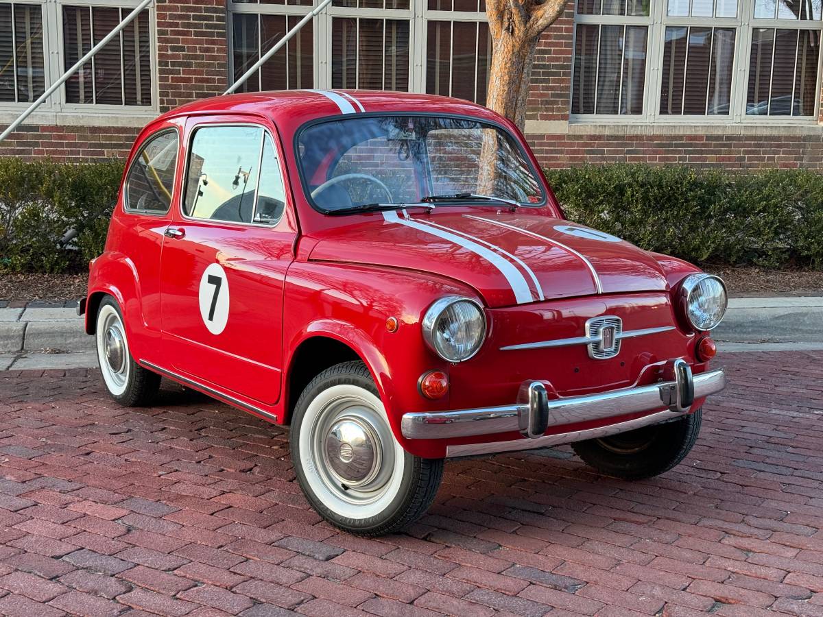
{"type": "MultiPolygon", "coordinates": [[[[0,269],[85,269],[105,244],[119,162],[0,158],[0,269]],[[59,248],[67,230],[71,248],[59,248]]],[[[650,165],[551,169],[567,216],[690,262],[823,267],[823,175],[650,165]]]]}

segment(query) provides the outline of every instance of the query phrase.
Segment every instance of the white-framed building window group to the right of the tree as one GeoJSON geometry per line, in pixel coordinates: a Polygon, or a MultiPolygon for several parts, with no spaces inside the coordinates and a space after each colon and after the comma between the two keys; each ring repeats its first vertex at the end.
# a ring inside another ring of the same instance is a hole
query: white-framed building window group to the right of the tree
{"type": "Polygon", "coordinates": [[[813,121],[821,4],[577,0],[572,119],[813,121]]]}

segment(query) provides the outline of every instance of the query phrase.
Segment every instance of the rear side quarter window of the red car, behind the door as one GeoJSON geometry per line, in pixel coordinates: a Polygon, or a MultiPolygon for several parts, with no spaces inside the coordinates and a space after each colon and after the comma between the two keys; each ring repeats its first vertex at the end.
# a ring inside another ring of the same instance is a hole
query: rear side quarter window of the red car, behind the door
{"type": "Polygon", "coordinates": [[[174,130],[160,132],[146,141],[126,177],[126,210],[154,214],[169,211],[177,151],[178,137],[174,130]]]}

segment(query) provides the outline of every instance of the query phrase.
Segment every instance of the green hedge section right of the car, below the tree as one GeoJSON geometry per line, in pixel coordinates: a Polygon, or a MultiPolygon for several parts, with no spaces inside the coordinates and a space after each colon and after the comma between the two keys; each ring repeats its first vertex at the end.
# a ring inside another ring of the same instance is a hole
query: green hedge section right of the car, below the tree
{"type": "Polygon", "coordinates": [[[681,166],[546,170],[566,216],[699,264],[823,267],[823,175],[681,166]]]}

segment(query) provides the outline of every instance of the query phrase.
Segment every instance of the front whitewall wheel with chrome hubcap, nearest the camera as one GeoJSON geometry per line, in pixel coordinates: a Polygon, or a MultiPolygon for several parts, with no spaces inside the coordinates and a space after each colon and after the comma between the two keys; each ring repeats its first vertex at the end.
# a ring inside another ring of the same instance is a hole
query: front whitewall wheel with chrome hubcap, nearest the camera
{"type": "Polygon", "coordinates": [[[443,459],[415,457],[394,438],[362,362],[332,366],[305,387],[290,441],[306,499],[332,525],[358,536],[416,521],[443,476],[443,459]]]}

